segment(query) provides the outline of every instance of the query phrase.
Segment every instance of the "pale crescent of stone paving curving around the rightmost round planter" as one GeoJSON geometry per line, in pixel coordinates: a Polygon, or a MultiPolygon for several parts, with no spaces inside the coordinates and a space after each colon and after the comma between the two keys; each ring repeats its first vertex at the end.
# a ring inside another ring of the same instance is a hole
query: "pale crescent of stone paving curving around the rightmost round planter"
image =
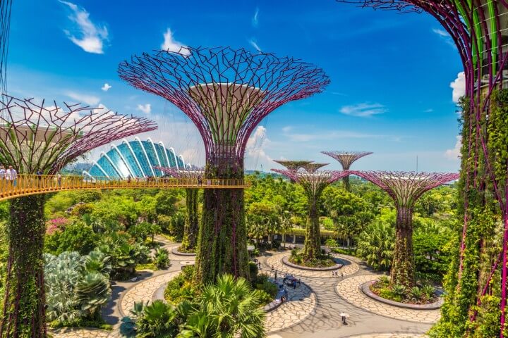
{"type": "Polygon", "coordinates": [[[360,275],[346,278],[337,284],[336,290],[339,296],[346,299],[349,303],[367,311],[377,313],[389,318],[408,320],[418,323],[436,323],[440,318],[439,310],[412,310],[409,308],[399,308],[391,306],[365,296],[361,292],[361,284],[370,280],[376,280],[376,275],[360,275]]]}

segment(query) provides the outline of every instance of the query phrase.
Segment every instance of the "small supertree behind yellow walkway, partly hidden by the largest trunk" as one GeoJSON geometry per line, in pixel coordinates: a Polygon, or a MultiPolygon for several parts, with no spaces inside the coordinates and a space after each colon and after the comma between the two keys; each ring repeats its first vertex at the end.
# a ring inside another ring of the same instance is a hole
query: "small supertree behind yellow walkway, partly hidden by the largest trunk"
{"type": "MultiPolygon", "coordinates": [[[[205,174],[204,170],[179,170],[177,168],[167,167],[154,167],[154,169],[161,170],[167,175],[177,178],[188,178],[199,182],[205,174]]],[[[198,193],[199,189],[186,188],[186,207],[187,219],[185,227],[183,228],[183,240],[181,249],[183,251],[195,251],[195,246],[198,241],[199,231],[199,213],[198,213],[198,193]]]]}

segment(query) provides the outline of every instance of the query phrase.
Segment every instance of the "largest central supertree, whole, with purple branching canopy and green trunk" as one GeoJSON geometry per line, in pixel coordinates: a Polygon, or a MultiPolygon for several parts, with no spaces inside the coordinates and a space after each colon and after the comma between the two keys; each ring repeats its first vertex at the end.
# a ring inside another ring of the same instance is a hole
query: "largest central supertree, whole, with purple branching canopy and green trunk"
{"type": "MultiPolygon", "coordinates": [[[[220,179],[243,178],[246,143],[262,118],[329,82],[314,65],[229,47],[134,56],[120,64],[119,74],[191,118],[205,143],[205,177],[220,179]]],[[[194,280],[208,282],[219,273],[248,277],[243,189],[204,192],[194,280]]]]}

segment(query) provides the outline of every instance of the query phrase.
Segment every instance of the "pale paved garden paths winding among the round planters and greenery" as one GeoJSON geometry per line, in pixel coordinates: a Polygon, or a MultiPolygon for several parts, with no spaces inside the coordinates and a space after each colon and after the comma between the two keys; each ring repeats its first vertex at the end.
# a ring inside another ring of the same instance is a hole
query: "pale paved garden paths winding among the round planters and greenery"
{"type": "MultiPolygon", "coordinates": [[[[179,246],[164,244],[169,251],[179,246]]],[[[287,255],[287,251],[271,252],[260,258],[262,272],[273,277],[276,270],[279,282],[284,273],[291,273],[302,282],[296,289],[288,287],[289,301],[267,313],[269,338],[423,338],[439,318],[439,311],[397,308],[377,303],[362,294],[359,285],[374,280],[377,275],[370,273],[357,258],[339,256],[346,265],[339,270],[339,277],[332,277],[329,271],[291,268],[282,263],[282,258],[287,255]],[[341,323],[342,312],[349,315],[347,325],[341,323]]],[[[179,273],[182,265],[192,260],[192,257],[171,254],[169,270],[144,272],[135,282],[117,283],[114,297],[105,311],[108,323],[114,325],[112,331],[61,329],[52,332],[54,337],[119,338],[119,319],[128,314],[133,303],[160,299],[164,285],[179,273]]]]}

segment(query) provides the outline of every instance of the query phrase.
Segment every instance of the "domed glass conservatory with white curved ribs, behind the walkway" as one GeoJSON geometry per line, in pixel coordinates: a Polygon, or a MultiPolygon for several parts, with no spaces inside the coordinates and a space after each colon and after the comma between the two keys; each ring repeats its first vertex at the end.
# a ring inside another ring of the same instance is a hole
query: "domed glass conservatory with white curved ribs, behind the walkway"
{"type": "Polygon", "coordinates": [[[155,166],[185,168],[186,163],[181,155],[176,156],[174,149],[167,149],[162,142],[141,141],[135,137],[132,141],[123,139],[121,144],[111,144],[110,150],[103,151],[83,175],[111,178],[164,176],[162,171],[153,168],[155,166]]]}

